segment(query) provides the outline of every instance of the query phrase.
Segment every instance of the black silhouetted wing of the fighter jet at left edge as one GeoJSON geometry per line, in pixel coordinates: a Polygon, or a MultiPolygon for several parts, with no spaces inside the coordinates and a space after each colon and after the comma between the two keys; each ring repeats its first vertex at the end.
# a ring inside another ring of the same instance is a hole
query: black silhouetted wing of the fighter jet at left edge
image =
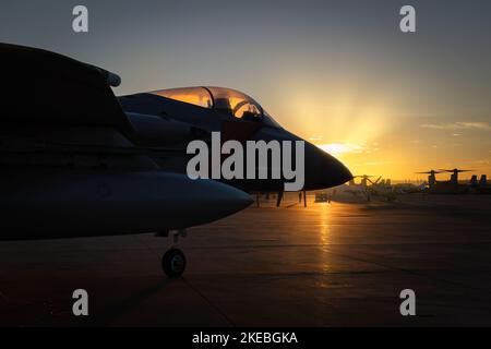
{"type": "Polygon", "coordinates": [[[0,44],[0,122],[100,125],[131,134],[109,84],[119,76],[55,52],[0,44]]]}

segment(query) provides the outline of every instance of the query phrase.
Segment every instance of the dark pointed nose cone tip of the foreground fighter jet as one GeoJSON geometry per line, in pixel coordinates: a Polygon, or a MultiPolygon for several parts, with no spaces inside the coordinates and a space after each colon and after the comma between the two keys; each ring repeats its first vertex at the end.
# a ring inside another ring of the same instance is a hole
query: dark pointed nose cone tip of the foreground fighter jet
{"type": "Polygon", "coordinates": [[[306,142],[306,190],[340,185],[351,178],[351,172],[338,159],[306,142]]]}

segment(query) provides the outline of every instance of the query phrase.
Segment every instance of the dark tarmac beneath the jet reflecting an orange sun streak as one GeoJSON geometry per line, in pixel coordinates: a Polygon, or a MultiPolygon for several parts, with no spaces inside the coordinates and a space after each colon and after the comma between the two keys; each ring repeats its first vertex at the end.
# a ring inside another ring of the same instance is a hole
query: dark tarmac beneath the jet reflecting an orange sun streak
{"type": "Polygon", "coordinates": [[[153,234],[0,242],[0,325],[490,326],[490,213],[484,195],[304,208],[288,194],[189,229],[177,279],[153,234]],[[80,288],[88,316],[72,313],[80,288]]]}

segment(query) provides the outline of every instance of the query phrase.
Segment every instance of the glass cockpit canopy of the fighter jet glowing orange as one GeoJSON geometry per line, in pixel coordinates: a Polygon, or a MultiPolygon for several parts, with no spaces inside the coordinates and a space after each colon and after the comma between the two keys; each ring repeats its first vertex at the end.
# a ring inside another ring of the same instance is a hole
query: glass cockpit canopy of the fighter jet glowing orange
{"type": "Polygon", "coordinates": [[[224,87],[182,87],[153,91],[151,94],[217,110],[246,121],[264,122],[272,127],[279,127],[259,103],[236,89],[224,87]]]}

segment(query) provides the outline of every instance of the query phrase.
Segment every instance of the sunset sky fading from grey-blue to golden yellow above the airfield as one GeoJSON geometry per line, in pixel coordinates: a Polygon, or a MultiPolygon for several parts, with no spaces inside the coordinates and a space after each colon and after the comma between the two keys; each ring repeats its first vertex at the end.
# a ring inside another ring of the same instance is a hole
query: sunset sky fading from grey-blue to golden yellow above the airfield
{"type": "Polygon", "coordinates": [[[115,71],[120,95],[240,89],[355,174],[491,174],[490,1],[7,0],[0,40],[115,71]],[[75,4],[87,34],[72,32],[75,4]],[[416,34],[399,31],[403,4],[416,34]]]}

